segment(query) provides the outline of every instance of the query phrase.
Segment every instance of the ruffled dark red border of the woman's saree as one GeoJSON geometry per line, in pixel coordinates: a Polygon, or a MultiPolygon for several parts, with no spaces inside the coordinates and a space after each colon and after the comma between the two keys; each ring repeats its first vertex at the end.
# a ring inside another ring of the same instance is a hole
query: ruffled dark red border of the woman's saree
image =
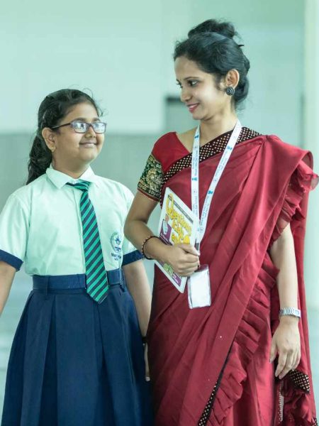
{"type": "MultiPolygon", "coordinates": [[[[307,166],[304,167],[301,163],[291,176],[281,214],[272,235],[272,242],[280,236],[286,224],[304,219],[300,207],[303,195],[318,184],[318,176],[309,173],[308,170],[307,166]]],[[[269,318],[267,293],[264,289],[268,287],[271,290],[276,282],[274,266],[269,257],[267,261],[267,257],[258,275],[240,327],[235,334],[228,359],[225,361],[211,397],[198,420],[198,426],[223,425],[223,420],[228,415],[230,408],[242,395],[242,385],[247,377],[247,366],[257,351],[262,330],[267,326],[267,318],[269,318]]],[[[308,398],[312,391],[306,373],[298,369],[291,371],[277,389],[274,425],[318,425],[316,417],[307,410],[308,405],[303,404],[304,399],[308,398]]]]}

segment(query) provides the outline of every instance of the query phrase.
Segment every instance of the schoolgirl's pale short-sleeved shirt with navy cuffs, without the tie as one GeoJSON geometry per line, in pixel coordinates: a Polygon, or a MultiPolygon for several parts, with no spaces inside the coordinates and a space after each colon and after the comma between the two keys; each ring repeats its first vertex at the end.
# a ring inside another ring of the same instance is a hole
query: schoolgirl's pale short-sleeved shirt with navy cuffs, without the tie
{"type": "MultiPolygon", "coordinates": [[[[91,168],[81,176],[91,182],[106,271],[142,256],[125,239],[123,227],[133,194],[119,182],[101,178],[91,168]]],[[[46,173],[9,197],[0,215],[0,261],[17,270],[23,261],[29,275],[85,273],[81,190],[69,175],[48,168],[46,173]]]]}

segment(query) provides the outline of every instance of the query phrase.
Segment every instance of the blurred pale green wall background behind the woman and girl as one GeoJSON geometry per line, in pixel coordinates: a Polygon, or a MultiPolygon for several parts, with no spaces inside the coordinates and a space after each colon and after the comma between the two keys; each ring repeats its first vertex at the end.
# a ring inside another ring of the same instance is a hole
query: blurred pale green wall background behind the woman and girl
{"type": "MultiPolygon", "coordinates": [[[[157,138],[196,123],[179,102],[176,40],[208,18],[232,21],[251,69],[244,126],[310,149],[319,172],[318,0],[11,0],[0,15],[0,209],[24,185],[43,98],[57,89],[90,90],[108,122],[94,171],[133,192],[157,138]]],[[[319,401],[319,190],[310,195],[306,290],[313,379],[319,401]]],[[[156,231],[158,211],[151,226],[156,231]]],[[[152,262],[146,264],[152,283],[152,262]]],[[[16,274],[0,320],[0,407],[9,349],[30,291],[16,274]]],[[[1,408],[0,408],[1,413],[1,408]]]]}

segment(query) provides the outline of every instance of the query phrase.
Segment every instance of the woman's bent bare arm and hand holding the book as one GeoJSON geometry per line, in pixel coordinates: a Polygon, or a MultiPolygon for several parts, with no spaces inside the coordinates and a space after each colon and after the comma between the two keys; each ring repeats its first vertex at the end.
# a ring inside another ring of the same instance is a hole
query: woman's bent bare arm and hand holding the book
{"type": "MultiPolygon", "coordinates": [[[[128,212],[124,227],[125,236],[139,250],[142,249],[143,241],[153,235],[147,222],[156,205],[156,201],[137,192],[128,212]]],[[[159,239],[152,238],[145,244],[144,253],[147,257],[169,263],[174,271],[182,276],[191,275],[199,265],[198,252],[190,244],[167,246],[159,239]]]]}

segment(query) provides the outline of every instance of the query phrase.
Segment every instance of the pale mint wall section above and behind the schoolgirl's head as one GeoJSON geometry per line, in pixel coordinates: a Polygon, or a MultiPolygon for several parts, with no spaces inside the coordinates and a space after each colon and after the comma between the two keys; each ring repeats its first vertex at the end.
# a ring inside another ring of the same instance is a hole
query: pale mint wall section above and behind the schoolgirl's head
{"type": "Polygon", "coordinates": [[[110,131],[162,127],[160,1],[1,3],[0,130],[29,131],[43,97],[89,87],[110,131]]]}

